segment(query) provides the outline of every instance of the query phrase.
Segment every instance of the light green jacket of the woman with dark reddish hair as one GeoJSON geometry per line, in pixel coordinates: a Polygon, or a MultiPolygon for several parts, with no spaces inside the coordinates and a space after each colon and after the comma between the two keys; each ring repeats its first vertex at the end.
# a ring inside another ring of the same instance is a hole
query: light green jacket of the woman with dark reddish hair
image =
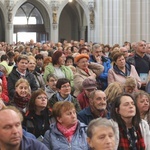
{"type": "MultiPolygon", "coordinates": [[[[68,66],[64,66],[64,65],[62,65],[62,66],[60,67],[60,69],[61,69],[62,72],[65,74],[65,77],[66,77],[67,79],[69,79],[69,81],[70,81],[70,83],[71,83],[71,87],[73,87],[74,84],[73,84],[73,72],[72,72],[72,70],[71,70],[68,66]]],[[[47,82],[47,76],[48,76],[48,74],[50,74],[50,73],[51,73],[51,74],[54,73],[54,66],[53,66],[52,63],[49,63],[49,64],[45,67],[44,76],[43,76],[45,83],[47,82]]]]}

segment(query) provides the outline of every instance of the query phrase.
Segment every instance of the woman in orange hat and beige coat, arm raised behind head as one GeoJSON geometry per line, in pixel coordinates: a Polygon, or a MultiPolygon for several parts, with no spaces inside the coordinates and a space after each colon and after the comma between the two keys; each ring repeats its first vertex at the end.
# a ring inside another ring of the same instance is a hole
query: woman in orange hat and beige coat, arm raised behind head
{"type": "Polygon", "coordinates": [[[82,82],[86,78],[96,80],[102,73],[104,67],[98,63],[89,63],[89,55],[79,54],[75,57],[76,73],[74,75],[74,96],[77,97],[82,92],[82,82]],[[91,69],[90,69],[91,68],[91,69]]]}

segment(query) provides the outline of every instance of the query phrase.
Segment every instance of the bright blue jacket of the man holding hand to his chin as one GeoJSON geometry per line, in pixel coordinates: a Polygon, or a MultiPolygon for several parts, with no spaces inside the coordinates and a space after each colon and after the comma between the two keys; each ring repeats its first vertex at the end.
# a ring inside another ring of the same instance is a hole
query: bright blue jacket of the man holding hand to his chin
{"type": "MultiPolygon", "coordinates": [[[[96,62],[93,55],[90,56],[90,62],[96,62]]],[[[108,71],[112,66],[110,59],[104,56],[102,56],[102,62],[103,62],[102,65],[104,66],[104,71],[97,77],[97,81],[98,84],[100,84],[99,85],[100,89],[104,91],[108,86],[107,82],[108,71]]]]}

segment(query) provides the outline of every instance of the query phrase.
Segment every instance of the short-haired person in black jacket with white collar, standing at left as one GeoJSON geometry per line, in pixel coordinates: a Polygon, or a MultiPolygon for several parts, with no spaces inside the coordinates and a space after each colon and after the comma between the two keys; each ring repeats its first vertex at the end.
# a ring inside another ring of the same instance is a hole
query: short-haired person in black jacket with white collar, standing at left
{"type": "Polygon", "coordinates": [[[34,75],[27,70],[28,67],[28,56],[20,55],[17,58],[17,67],[14,66],[13,70],[8,76],[8,94],[10,100],[13,98],[15,92],[15,84],[20,78],[28,80],[31,91],[38,89],[34,75]]]}

